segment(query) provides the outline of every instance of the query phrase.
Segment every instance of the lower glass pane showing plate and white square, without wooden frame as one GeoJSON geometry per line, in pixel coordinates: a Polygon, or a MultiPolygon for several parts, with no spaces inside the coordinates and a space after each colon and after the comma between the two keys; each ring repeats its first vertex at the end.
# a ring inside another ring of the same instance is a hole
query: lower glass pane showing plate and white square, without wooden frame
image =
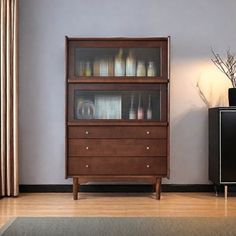
{"type": "Polygon", "coordinates": [[[161,92],[74,90],[74,119],[161,120],[161,92]]]}

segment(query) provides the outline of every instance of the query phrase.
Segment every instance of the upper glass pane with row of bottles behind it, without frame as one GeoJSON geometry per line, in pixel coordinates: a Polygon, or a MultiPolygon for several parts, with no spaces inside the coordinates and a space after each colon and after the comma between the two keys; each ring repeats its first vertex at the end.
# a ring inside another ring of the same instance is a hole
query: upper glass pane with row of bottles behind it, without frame
{"type": "Polygon", "coordinates": [[[161,76],[160,48],[76,48],[76,76],[161,76]]]}

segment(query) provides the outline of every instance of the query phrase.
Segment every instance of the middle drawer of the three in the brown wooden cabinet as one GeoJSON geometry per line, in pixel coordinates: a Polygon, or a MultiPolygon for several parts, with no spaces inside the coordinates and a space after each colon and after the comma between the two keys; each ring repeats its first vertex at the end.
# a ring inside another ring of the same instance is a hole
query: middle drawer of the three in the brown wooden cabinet
{"type": "Polygon", "coordinates": [[[69,139],[69,156],[166,156],[166,139],[69,139]]]}

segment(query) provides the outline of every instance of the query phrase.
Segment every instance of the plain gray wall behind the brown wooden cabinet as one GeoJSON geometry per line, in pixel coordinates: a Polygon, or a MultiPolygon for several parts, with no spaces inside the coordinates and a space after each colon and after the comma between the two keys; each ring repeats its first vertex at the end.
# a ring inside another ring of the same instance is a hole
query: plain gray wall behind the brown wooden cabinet
{"type": "MultiPolygon", "coordinates": [[[[171,36],[171,175],[208,183],[210,47],[236,51],[235,0],[20,0],[20,182],[65,184],[65,35],[171,36]]],[[[220,72],[219,72],[220,73],[220,72]]]]}

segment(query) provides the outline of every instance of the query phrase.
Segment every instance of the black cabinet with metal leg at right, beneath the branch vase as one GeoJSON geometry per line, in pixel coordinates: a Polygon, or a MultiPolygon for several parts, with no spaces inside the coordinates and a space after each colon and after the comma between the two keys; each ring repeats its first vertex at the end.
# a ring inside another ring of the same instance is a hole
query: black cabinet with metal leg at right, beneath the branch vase
{"type": "Polygon", "coordinates": [[[217,185],[236,184],[236,107],[209,109],[209,179],[217,185]]]}

